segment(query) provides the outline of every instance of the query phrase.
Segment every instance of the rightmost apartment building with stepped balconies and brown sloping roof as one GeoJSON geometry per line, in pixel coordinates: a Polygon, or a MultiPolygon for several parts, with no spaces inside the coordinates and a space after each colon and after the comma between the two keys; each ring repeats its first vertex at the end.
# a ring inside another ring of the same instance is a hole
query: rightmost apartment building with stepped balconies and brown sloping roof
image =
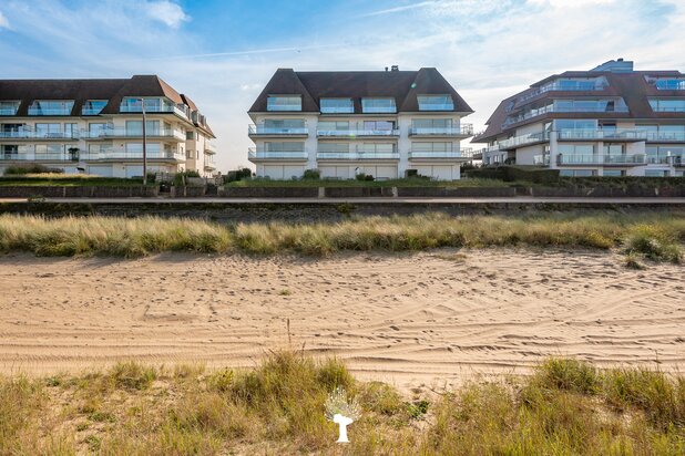
{"type": "Polygon", "coordinates": [[[563,176],[682,176],[685,74],[623,59],[551,75],[500,103],[474,143],[484,165],[563,176]]]}

